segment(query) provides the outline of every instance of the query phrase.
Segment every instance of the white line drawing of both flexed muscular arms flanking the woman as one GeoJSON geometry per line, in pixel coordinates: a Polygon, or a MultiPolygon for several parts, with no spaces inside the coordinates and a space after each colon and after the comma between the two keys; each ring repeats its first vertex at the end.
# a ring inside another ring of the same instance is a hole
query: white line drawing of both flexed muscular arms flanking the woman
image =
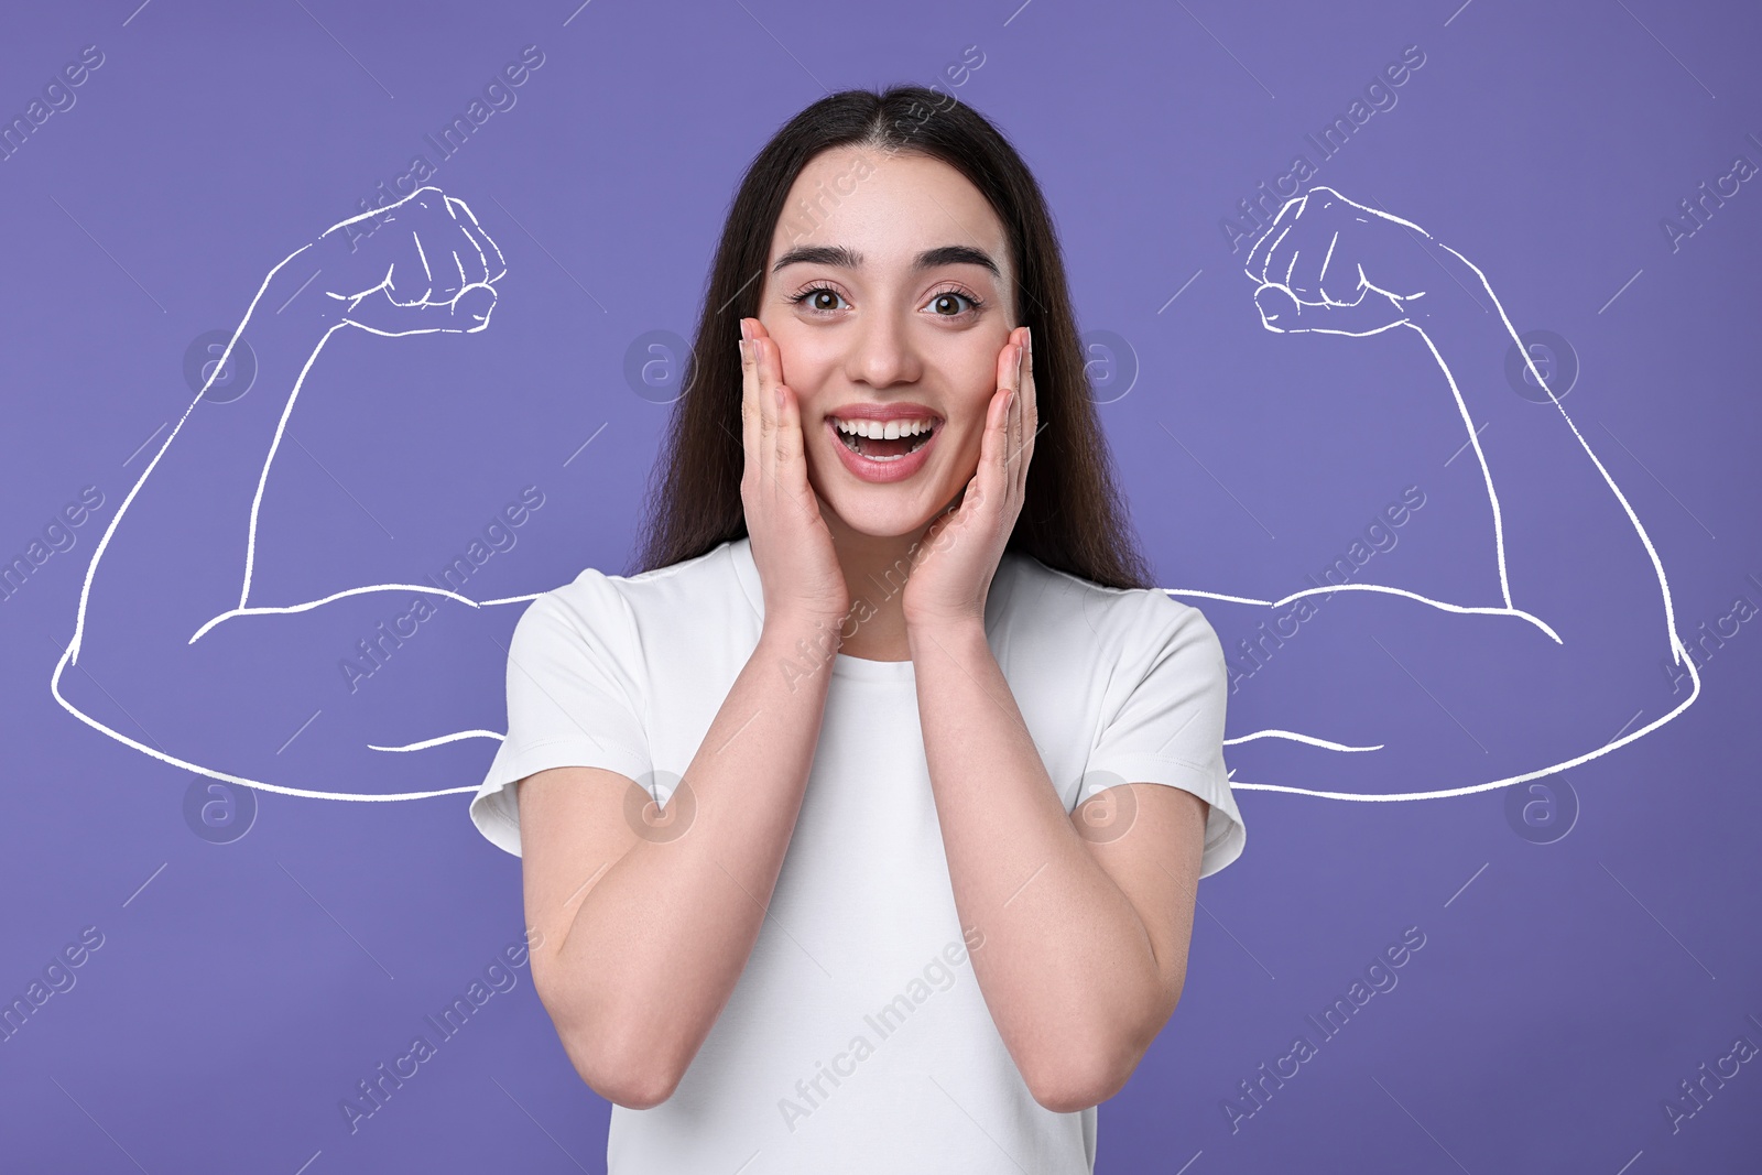
{"type": "MultiPolygon", "coordinates": [[[[280,419],[275,425],[273,439],[268,446],[268,453],[264,454],[263,467],[255,479],[255,491],[252,495],[250,518],[245,534],[245,551],[243,551],[245,558],[243,558],[243,576],[238,592],[238,604],[233,608],[226,608],[218,615],[213,615],[203,624],[199,624],[192,631],[187,643],[194,645],[196,641],[213,632],[218,625],[245,617],[307,613],[322,608],[326,604],[337,602],[340,599],[349,599],[375,592],[396,592],[396,594],[419,592],[426,595],[446,597],[458,604],[465,604],[467,608],[472,610],[493,608],[502,604],[522,604],[539,595],[534,592],[527,595],[511,595],[506,599],[476,601],[460,592],[451,592],[433,585],[375,583],[375,585],[349,588],[344,592],[335,592],[321,599],[312,599],[296,604],[250,602],[252,573],[255,569],[257,520],[263,506],[264,486],[268,484],[270,477],[270,467],[275,462],[275,454],[280,447],[284,432],[287,428],[287,419],[292,414],[294,402],[300,396],[300,389],[305,384],[307,373],[312,370],[312,365],[315,363],[319,352],[322,351],[324,342],[344,326],[354,326],[358,329],[382,336],[405,336],[405,335],[426,335],[426,333],[469,335],[483,331],[490,322],[490,312],[495,307],[495,282],[507,270],[506,259],[502,257],[500,248],[495,245],[490,234],[478,224],[478,218],[472,215],[470,208],[463,201],[449,197],[442,194],[439,188],[425,187],[418,188],[416,192],[412,192],[411,196],[403,197],[395,204],[388,204],[386,208],[370,213],[361,213],[358,217],[351,217],[347,220],[331,225],[322,234],[319,234],[315,241],[303,245],[301,248],[284,257],[264,277],[263,285],[257,289],[257,294],[252,298],[252,303],[245,312],[245,317],[240,321],[238,329],[233,333],[233,340],[227,344],[227,352],[222,356],[220,363],[215,365],[213,375],[210,375],[208,384],[204,384],[203,389],[196,395],[196,398],[185,409],[183,416],[178,419],[178,425],[171,430],[166,440],[153,453],[153,458],[146,463],[146,469],[141,472],[134,488],[130,488],[122,506],[111,516],[109,525],[104,530],[104,537],[99,541],[95,551],[92,553],[92,562],[86,567],[85,583],[81,585],[79,592],[79,610],[74,620],[74,636],[67,645],[65,652],[62,654],[62,657],[55,664],[55,671],[49,678],[49,691],[55,696],[56,703],[62,705],[62,708],[65,708],[69,713],[78,717],[86,726],[100,731],[102,735],[115,738],[116,742],[141,754],[146,754],[153,759],[159,759],[162,763],[189,772],[197,772],[211,779],[220,779],[247,787],[257,787],[263,791],[273,791],[278,794],[317,798],[317,800],[352,800],[352,802],[425,800],[430,796],[474,793],[478,789],[478,784],[470,782],[465,786],[437,787],[432,791],[363,794],[347,791],[319,791],[310,787],[292,787],[287,784],[275,784],[263,779],[247,779],[241,775],[217,770],[213,766],[206,766],[201,763],[173,756],[159,747],[146,745],[118,729],[113,729],[111,726],[106,726],[99,719],[85,713],[62,694],[63,673],[67,671],[69,666],[79,664],[79,654],[86,634],[86,613],[93,599],[93,585],[99,583],[99,567],[102,565],[104,553],[111,544],[111,537],[116,534],[118,527],[123,525],[125,518],[129,516],[130,506],[141,493],[143,486],[148,484],[148,479],[153,476],[153,470],[159,467],[160,460],[166,456],[171,446],[176,444],[178,433],[190,419],[190,412],[194,412],[197,405],[203,403],[203,395],[215,382],[215,379],[218,379],[227,370],[227,359],[231,358],[233,347],[236,347],[240,338],[245,335],[245,328],[247,324],[250,324],[252,315],[257,312],[259,303],[264,299],[264,294],[271,289],[271,285],[277,289],[277,292],[280,292],[282,289],[285,289],[287,284],[291,284],[287,278],[282,278],[282,282],[278,284],[277,275],[303,255],[307,257],[307,262],[317,261],[319,257],[326,259],[340,257],[338,252],[326,254],[324,250],[328,248],[329,243],[345,240],[347,236],[345,229],[349,225],[354,225],[356,222],[365,220],[368,217],[377,218],[381,227],[393,227],[402,222],[409,229],[409,233],[403,234],[375,233],[375,240],[370,245],[361,247],[359,252],[366,259],[359,262],[361,266],[368,264],[382,266],[382,271],[381,268],[372,270],[372,275],[377,275],[377,280],[374,280],[372,284],[359,284],[358,289],[344,287],[344,289],[321,291],[321,294],[328,298],[331,303],[331,314],[324,315],[326,321],[329,321],[329,326],[317,340],[317,345],[310,349],[310,354],[305,356],[303,363],[298,365],[298,377],[294,379],[292,388],[287,395],[285,407],[282,409],[280,419]]],[[[1353,261],[1348,266],[1346,257],[1350,257],[1351,254],[1350,238],[1348,238],[1348,252],[1343,254],[1341,262],[1336,262],[1334,254],[1341,243],[1341,234],[1355,233],[1355,229],[1351,227],[1353,224],[1367,225],[1367,229],[1373,231],[1381,229],[1385,233],[1387,231],[1413,233],[1429,241],[1433,248],[1450,252],[1464,266],[1468,266],[1468,270],[1473,271],[1473,275],[1480,280],[1484,294],[1491,299],[1492,307],[1498,310],[1499,322],[1503,322],[1512,340],[1517,342],[1517,329],[1512,326],[1510,317],[1505,314],[1505,307],[1492,294],[1492,287],[1487,285],[1485,275],[1473,262],[1470,262],[1466,257],[1462,257],[1448,245],[1436,241],[1429,233],[1420,229],[1417,224],[1348,201],[1339,192],[1334,192],[1332,188],[1327,187],[1314,187],[1307,194],[1288,201],[1279,210],[1276,220],[1255,243],[1255,248],[1249,252],[1246,273],[1249,278],[1256,282],[1255,301],[1262,314],[1262,324],[1265,326],[1265,329],[1274,333],[1323,333],[1323,335],[1348,335],[1348,336],[1378,335],[1394,329],[1397,326],[1406,326],[1417,331],[1420,338],[1425,340],[1431,356],[1436,359],[1438,368],[1443,372],[1443,377],[1448,382],[1450,391],[1455,398],[1455,405],[1462,418],[1464,432],[1468,435],[1468,446],[1473,449],[1477,462],[1480,462],[1482,479],[1487,490],[1487,502],[1492,507],[1494,550],[1498,558],[1499,592],[1503,606],[1462,606],[1448,601],[1431,599],[1404,588],[1387,587],[1378,583],[1343,583],[1343,585],[1330,583],[1327,587],[1293,592],[1281,599],[1225,595],[1198,588],[1163,588],[1163,590],[1175,597],[1214,599],[1232,604],[1249,604],[1265,608],[1283,608],[1304,595],[1318,595],[1318,594],[1329,595],[1332,592],[1388,592],[1394,595],[1404,595],[1408,599],[1422,602],[1429,608],[1436,608],[1440,611],[1519,618],[1526,624],[1535,625],[1540,632],[1547,634],[1549,639],[1561,643],[1559,634],[1544,618],[1531,615],[1529,611],[1524,611],[1512,601],[1510,583],[1505,573],[1505,536],[1499,514],[1499,499],[1492,484],[1492,474],[1487,467],[1485,454],[1482,453],[1480,447],[1478,433],[1470,418],[1468,407],[1462,400],[1462,393],[1457,388],[1455,375],[1452,373],[1448,363],[1445,361],[1443,354],[1438,351],[1438,347],[1434,345],[1433,338],[1427,335],[1424,326],[1418,321],[1415,321],[1415,317],[1408,312],[1408,305],[1422,298],[1425,291],[1385,289],[1376,285],[1371,280],[1371,277],[1366,275],[1364,266],[1360,262],[1353,261]],[[1323,234],[1327,236],[1327,245],[1322,264],[1314,266],[1313,270],[1309,264],[1306,264],[1300,270],[1299,264],[1304,261],[1302,254],[1306,248],[1311,252],[1323,248],[1320,245],[1323,234]],[[1277,291],[1277,294],[1283,296],[1283,301],[1279,301],[1277,308],[1269,308],[1269,303],[1274,301],[1272,298],[1267,298],[1265,301],[1262,299],[1262,294],[1265,291],[1277,291]]],[[[307,284],[310,284],[312,280],[314,278],[307,278],[307,284]]],[[[326,282],[326,285],[329,284],[333,282],[326,282]]],[[[300,285],[300,291],[303,289],[305,285],[300,285]]],[[[294,291],[289,301],[292,301],[292,298],[298,298],[300,291],[294,291]]],[[[282,308],[285,308],[285,303],[282,308]]],[[[280,310],[275,310],[275,314],[280,314],[280,310]]],[[[1536,370],[1535,359],[1529,356],[1528,349],[1524,349],[1519,344],[1519,351],[1526,356],[1526,363],[1529,365],[1529,372],[1535,377],[1536,386],[1547,389],[1547,381],[1544,379],[1542,372],[1536,370]]],[[[1658,729],[1660,726],[1674,719],[1677,713],[1686,710],[1690,705],[1693,705],[1695,698],[1699,698],[1700,694],[1700,676],[1695,669],[1693,659],[1688,657],[1688,650],[1683,647],[1683,641],[1676,632],[1676,613],[1670,604],[1670,588],[1669,581],[1665,580],[1665,571],[1663,564],[1658,558],[1658,551],[1653,546],[1651,539],[1647,537],[1646,528],[1635,516],[1633,507],[1628,504],[1626,497],[1616,486],[1614,479],[1609,476],[1609,470],[1603,467],[1603,463],[1596,458],[1595,453],[1591,453],[1591,446],[1586,444],[1577,426],[1572,425],[1572,419],[1566,416],[1566,410],[1559,405],[1559,400],[1554,398],[1552,391],[1549,391],[1549,398],[1552,400],[1554,409],[1559,410],[1566,426],[1572,428],[1572,435],[1577,437],[1579,444],[1589,456],[1596,472],[1603,477],[1603,483],[1609,486],[1610,493],[1616,495],[1616,500],[1621,504],[1621,509],[1626,513],[1628,521],[1633,525],[1635,534],[1644,544],[1646,553],[1651,557],[1651,565],[1658,576],[1658,590],[1662,592],[1665,606],[1665,620],[1669,627],[1670,648],[1677,662],[1686,662],[1688,675],[1695,685],[1690,696],[1663,717],[1647,722],[1639,729],[1628,731],[1621,738],[1610,740],[1600,747],[1586,750],[1584,754],[1570,757],[1566,761],[1551,763],[1524,772],[1521,775],[1510,775],[1505,779],[1492,779],[1461,787],[1445,787],[1436,791],[1374,794],[1374,793],[1318,791],[1318,789],[1293,787],[1284,784],[1244,782],[1244,780],[1235,780],[1232,772],[1232,787],[1246,791],[1290,793],[1290,794],[1314,796],[1323,800],[1357,800],[1357,802],[1436,800],[1445,796],[1489,791],[1494,787],[1507,787],[1510,784],[1526,782],[1531,779],[1538,779],[1544,775],[1551,775],[1554,772],[1577,766],[1581,763],[1588,763],[1598,756],[1603,756],[1618,747],[1633,742],[1635,738],[1647,735],[1649,731],[1658,729]]],[[[123,587],[113,583],[100,583],[100,590],[122,592],[123,587]]],[[[396,745],[366,743],[366,749],[375,752],[414,752],[470,738],[504,740],[506,735],[490,729],[463,729],[409,743],[396,743],[396,745]]],[[[1226,738],[1225,745],[1242,745],[1263,738],[1288,740],[1341,754],[1369,754],[1383,749],[1383,743],[1351,745],[1337,740],[1322,738],[1313,733],[1299,733],[1279,728],[1258,729],[1247,735],[1226,738]]]]}

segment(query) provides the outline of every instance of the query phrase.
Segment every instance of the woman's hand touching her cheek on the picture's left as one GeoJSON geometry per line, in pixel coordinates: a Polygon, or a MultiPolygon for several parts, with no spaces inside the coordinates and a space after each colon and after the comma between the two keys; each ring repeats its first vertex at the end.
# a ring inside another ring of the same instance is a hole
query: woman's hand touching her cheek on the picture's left
{"type": "Polygon", "coordinates": [[[837,625],[849,611],[849,588],[807,481],[800,403],[782,382],[782,352],[765,324],[742,319],[740,331],[740,500],[765,585],[765,620],[837,625]]]}

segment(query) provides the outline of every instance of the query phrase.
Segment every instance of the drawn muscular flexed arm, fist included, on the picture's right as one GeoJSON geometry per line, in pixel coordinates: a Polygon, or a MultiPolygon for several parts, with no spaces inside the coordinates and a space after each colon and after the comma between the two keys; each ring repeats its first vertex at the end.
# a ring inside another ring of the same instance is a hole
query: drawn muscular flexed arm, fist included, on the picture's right
{"type": "Polygon", "coordinates": [[[1214,597],[1284,615],[1313,604],[1316,631],[1330,629],[1269,650],[1284,682],[1232,696],[1233,786],[1336,800],[1464,794],[1589,761],[1693,703],[1699,676],[1658,551],[1558,395],[1533,403],[1507,386],[1505,356],[1521,344],[1473,262],[1417,224],[1316,187],[1281,208],[1246,271],[1277,335],[1418,335],[1443,373],[1424,393],[1450,396],[1459,460],[1478,463],[1496,594],[1429,599],[1346,583],[1281,601],[1214,597]],[[1672,696],[1660,662],[1681,664],[1695,689],[1672,696]],[[1307,729],[1263,705],[1288,682],[1306,691],[1307,729]]]}

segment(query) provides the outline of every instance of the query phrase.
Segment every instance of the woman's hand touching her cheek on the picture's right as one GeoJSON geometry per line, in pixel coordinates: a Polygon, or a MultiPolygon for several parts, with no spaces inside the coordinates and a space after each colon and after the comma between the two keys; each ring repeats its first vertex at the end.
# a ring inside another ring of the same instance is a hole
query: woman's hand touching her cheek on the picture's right
{"type": "Polygon", "coordinates": [[[985,597],[1022,513],[1038,428],[1033,340],[1018,326],[997,352],[997,391],[985,412],[978,472],[959,507],[937,516],[913,551],[902,601],[907,629],[985,624],[985,597]]]}

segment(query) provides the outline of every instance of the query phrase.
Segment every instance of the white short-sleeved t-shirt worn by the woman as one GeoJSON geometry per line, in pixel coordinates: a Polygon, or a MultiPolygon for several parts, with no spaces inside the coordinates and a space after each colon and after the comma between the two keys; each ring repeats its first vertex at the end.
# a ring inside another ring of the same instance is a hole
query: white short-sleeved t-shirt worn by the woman
{"type": "MultiPolygon", "coordinates": [[[[507,740],[470,803],[479,831],[518,854],[513,784],[553,766],[618,772],[664,810],[763,606],[747,539],[629,578],[589,569],[532,601],[507,740]]],[[[1066,810],[1121,782],[1168,784],[1210,803],[1202,876],[1242,853],[1223,647],[1196,608],[1006,553],[985,631],[1066,810]]],[[[830,673],[752,955],[673,1096],[613,1106],[608,1175],[1092,1171],[1096,1110],[1034,1101],[973,976],[913,662],[839,654],[830,673]]]]}

